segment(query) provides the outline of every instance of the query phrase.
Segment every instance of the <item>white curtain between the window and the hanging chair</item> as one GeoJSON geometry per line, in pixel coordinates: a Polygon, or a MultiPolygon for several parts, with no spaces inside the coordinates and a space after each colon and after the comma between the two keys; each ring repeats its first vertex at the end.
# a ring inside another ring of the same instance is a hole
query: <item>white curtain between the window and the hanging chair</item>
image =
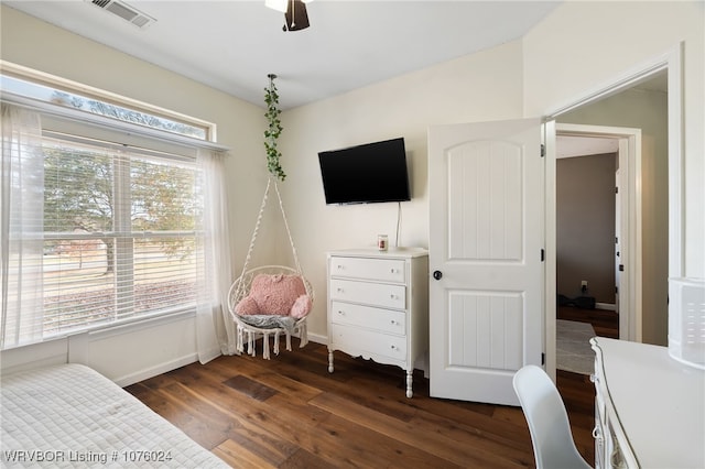
{"type": "Polygon", "coordinates": [[[228,290],[232,282],[225,153],[198,151],[204,181],[204,273],[199,280],[209,294],[198,303],[196,342],[198,360],[205,363],[221,353],[234,355],[236,328],[228,312],[228,290]]]}

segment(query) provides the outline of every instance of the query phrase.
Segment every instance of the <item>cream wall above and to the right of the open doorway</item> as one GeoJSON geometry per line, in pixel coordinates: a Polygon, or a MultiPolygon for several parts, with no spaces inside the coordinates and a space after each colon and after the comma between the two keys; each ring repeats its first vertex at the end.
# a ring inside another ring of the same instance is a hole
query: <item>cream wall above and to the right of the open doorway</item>
{"type": "Polygon", "coordinates": [[[543,116],[683,44],[683,274],[705,277],[705,3],[568,1],[524,36],[524,113],[543,116]]]}

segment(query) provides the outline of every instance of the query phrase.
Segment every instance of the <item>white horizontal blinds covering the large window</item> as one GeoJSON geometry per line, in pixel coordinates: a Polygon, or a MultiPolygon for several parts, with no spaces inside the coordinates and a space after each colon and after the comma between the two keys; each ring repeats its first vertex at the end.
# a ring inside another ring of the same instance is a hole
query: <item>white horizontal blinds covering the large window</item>
{"type": "Polygon", "coordinates": [[[195,307],[196,162],[51,132],[43,150],[44,338],[195,307]]]}

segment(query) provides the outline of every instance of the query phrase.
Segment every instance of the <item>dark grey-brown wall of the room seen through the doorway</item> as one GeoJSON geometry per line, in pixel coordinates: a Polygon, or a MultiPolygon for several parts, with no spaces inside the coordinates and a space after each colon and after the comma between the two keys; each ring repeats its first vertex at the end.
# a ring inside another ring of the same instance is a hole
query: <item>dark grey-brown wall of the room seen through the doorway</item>
{"type": "Polygon", "coordinates": [[[617,155],[556,161],[556,290],[615,304],[617,155]],[[581,282],[588,282],[587,292],[581,282]]]}

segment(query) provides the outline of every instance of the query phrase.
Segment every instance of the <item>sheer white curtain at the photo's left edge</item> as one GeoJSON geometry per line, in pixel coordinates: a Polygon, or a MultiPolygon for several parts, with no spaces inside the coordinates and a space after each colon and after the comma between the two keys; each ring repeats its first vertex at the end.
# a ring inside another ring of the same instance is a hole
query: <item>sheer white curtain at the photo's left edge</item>
{"type": "Polygon", "coordinates": [[[0,349],[42,340],[44,155],[40,116],[2,103],[0,349]]]}

